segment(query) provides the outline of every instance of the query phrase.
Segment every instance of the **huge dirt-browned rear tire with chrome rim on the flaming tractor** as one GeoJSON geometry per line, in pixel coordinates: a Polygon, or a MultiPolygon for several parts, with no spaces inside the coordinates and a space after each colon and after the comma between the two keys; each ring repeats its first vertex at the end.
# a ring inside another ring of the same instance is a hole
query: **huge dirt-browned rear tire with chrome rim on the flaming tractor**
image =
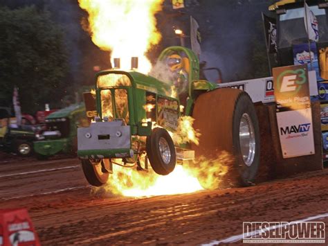
{"type": "Polygon", "coordinates": [[[259,125],[252,100],[239,89],[222,88],[201,94],[192,113],[199,130],[196,155],[215,159],[226,151],[233,156],[222,186],[253,184],[259,166],[259,125]]]}

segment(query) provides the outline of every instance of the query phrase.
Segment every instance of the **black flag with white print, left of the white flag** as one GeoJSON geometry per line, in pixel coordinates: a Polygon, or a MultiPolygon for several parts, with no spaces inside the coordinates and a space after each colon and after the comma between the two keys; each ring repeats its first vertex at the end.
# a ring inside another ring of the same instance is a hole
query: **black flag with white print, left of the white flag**
{"type": "Polygon", "coordinates": [[[277,21],[262,13],[264,33],[266,37],[266,49],[268,53],[277,53],[277,21]]]}

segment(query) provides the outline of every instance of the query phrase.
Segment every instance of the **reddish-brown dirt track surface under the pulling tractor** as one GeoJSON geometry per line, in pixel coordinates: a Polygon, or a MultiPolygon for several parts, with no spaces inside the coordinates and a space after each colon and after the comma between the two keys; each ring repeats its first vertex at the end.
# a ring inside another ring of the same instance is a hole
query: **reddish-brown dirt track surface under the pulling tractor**
{"type": "Polygon", "coordinates": [[[78,159],[0,158],[0,208],[27,208],[42,245],[198,245],[242,234],[246,221],[327,213],[327,180],[326,168],[248,188],[97,197],[78,159]]]}

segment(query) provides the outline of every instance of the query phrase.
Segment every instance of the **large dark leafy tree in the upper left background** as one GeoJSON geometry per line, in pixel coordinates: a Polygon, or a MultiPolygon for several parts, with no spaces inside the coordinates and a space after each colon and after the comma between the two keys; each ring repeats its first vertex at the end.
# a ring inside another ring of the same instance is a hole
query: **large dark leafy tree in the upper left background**
{"type": "Polygon", "coordinates": [[[59,107],[69,71],[62,29],[47,11],[28,6],[0,8],[0,86],[11,104],[19,88],[22,112],[34,114],[45,103],[59,107]]]}

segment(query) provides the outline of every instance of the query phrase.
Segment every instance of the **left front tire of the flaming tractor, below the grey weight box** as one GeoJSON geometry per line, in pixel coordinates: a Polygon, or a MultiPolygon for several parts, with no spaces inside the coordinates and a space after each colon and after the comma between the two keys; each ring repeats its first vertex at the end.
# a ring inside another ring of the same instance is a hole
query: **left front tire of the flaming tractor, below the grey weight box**
{"type": "Polygon", "coordinates": [[[109,165],[109,159],[101,159],[99,161],[82,159],[82,170],[89,184],[92,186],[102,186],[106,184],[109,172],[104,165],[109,165]]]}

